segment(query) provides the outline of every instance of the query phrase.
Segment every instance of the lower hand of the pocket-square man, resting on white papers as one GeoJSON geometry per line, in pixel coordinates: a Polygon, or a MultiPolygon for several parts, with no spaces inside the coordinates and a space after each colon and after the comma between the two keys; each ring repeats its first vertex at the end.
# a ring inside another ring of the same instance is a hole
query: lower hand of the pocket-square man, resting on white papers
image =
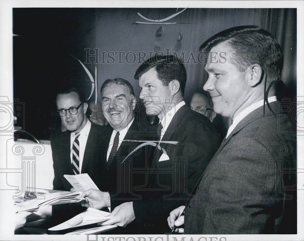
{"type": "Polygon", "coordinates": [[[117,225],[120,227],[125,227],[129,223],[131,223],[135,219],[134,211],[133,211],[133,202],[127,202],[120,204],[109,215],[111,219],[98,223],[99,225],[117,225]]]}

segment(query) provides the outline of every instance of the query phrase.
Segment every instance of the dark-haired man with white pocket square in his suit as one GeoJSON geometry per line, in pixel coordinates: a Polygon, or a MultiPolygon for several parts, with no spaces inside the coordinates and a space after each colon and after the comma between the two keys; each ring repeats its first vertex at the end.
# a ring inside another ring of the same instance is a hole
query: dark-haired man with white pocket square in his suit
{"type": "MultiPolygon", "coordinates": [[[[112,219],[102,225],[126,226],[135,220],[138,231],[166,232],[169,212],[185,204],[218,149],[219,136],[206,116],[185,104],[186,70],[179,59],[156,55],[140,65],[135,79],[147,114],[161,120],[161,141],[154,149],[142,198],[117,206],[112,219]]],[[[87,199],[92,202],[95,197],[87,199]]],[[[96,199],[93,203],[100,205],[96,199]]]]}

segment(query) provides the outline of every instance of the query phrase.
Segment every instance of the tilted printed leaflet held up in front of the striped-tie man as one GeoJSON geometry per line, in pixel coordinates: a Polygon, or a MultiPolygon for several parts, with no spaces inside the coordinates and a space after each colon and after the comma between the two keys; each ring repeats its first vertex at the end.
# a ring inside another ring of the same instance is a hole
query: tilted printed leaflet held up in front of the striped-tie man
{"type": "Polygon", "coordinates": [[[78,175],[63,175],[78,192],[85,192],[89,189],[99,190],[88,173],[78,175]]]}

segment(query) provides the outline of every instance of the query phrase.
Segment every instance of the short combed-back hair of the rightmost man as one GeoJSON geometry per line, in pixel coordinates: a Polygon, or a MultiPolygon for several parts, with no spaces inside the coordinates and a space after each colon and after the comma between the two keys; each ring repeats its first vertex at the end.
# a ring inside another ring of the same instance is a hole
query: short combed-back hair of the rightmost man
{"type": "Polygon", "coordinates": [[[270,81],[281,79],[283,52],[266,30],[253,25],[228,28],[207,39],[199,50],[207,53],[223,42],[232,48],[232,55],[227,58],[239,71],[244,72],[251,64],[259,64],[270,81]]]}

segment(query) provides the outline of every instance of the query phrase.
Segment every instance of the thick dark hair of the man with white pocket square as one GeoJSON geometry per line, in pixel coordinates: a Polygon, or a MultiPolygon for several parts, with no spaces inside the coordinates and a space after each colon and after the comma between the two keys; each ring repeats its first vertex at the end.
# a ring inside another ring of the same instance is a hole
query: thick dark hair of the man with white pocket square
{"type": "Polygon", "coordinates": [[[155,68],[157,78],[161,80],[164,86],[176,79],[180,84],[181,94],[184,95],[187,73],[184,64],[180,59],[174,55],[154,55],[154,57],[147,59],[136,70],[134,79],[139,79],[141,75],[155,68]]]}

